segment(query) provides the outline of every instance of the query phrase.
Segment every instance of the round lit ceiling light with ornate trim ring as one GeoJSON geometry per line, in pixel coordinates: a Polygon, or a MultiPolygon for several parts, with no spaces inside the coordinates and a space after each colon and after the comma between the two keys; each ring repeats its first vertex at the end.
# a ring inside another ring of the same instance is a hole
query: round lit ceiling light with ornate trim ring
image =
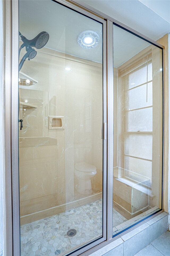
{"type": "Polygon", "coordinates": [[[91,49],[100,43],[100,37],[95,31],[86,30],[79,34],[77,42],[81,47],[91,49]]]}

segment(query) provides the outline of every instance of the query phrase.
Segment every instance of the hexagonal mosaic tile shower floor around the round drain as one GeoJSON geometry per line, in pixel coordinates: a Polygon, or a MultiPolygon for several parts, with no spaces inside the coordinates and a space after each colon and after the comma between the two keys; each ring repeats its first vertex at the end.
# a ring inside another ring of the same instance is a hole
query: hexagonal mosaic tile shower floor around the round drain
{"type": "MultiPolygon", "coordinates": [[[[126,219],[113,210],[113,226],[126,219]]],[[[21,256],[65,255],[102,235],[102,200],[20,227],[21,256]],[[74,237],[67,231],[76,229],[74,237]]]]}

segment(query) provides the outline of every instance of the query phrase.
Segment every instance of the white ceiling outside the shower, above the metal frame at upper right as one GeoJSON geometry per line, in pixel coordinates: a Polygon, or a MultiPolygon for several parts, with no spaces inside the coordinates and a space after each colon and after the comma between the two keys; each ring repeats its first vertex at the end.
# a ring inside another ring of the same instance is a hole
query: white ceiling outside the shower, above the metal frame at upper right
{"type": "Polygon", "coordinates": [[[169,0],[81,0],[80,3],[94,7],[153,40],[170,32],[169,0]]]}

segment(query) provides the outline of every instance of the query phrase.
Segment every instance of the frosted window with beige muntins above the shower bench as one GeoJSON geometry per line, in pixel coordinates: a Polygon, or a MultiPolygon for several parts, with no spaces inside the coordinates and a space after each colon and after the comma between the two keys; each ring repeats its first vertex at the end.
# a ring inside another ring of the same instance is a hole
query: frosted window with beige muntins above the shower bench
{"type": "Polygon", "coordinates": [[[152,55],[145,54],[122,76],[123,176],[152,185],[152,55]],[[135,64],[135,68],[134,68],[135,64]]]}

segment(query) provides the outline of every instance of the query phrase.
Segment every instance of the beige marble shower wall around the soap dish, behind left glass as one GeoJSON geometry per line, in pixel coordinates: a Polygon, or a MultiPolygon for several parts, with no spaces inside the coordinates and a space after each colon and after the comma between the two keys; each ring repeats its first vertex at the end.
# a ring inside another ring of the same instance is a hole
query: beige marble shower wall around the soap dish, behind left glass
{"type": "Polygon", "coordinates": [[[22,108],[19,130],[20,215],[31,214],[30,222],[36,212],[44,211],[44,218],[46,209],[70,209],[70,202],[86,197],[76,190],[77,162],[96,166],[92,194],[102,191],[103,71],[100,63],[43,48],[22,72],[38,81],[19,88],[20,101],[36,106],[22,108]],[[64,116],[65,129],[49,130],[48,115],[64,116]]]}

